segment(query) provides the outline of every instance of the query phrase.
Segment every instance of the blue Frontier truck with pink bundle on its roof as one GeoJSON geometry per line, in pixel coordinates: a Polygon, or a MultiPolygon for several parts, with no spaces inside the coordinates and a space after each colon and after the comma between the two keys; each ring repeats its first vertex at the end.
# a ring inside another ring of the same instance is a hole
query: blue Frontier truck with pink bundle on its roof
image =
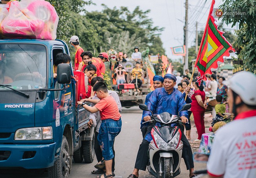
{"type": "MultiPolygon", "coordinates": [[[[74,162],[93,162],[94,130],[89,112],[77,105],[78,80],[62,40],[0,40],[0,169],[48,170],[67,177],[74,162]]],[[[88,103],[89,105],[89,103],[88,103]]]]}

